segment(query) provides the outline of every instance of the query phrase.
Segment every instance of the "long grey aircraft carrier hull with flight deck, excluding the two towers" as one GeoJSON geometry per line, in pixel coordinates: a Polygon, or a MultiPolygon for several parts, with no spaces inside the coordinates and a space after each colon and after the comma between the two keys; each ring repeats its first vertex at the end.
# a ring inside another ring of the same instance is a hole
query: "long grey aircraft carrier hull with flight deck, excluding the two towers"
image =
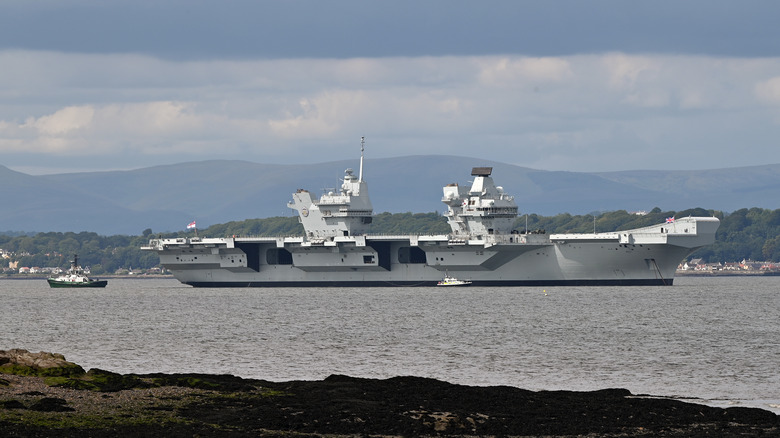
{"type": "Polygon", "coordinates": [[[596,234],[179,238],[152,240],[160,263],[196,287],[672,285],[679,263],[714,241],[716,218],[596,234]]]}

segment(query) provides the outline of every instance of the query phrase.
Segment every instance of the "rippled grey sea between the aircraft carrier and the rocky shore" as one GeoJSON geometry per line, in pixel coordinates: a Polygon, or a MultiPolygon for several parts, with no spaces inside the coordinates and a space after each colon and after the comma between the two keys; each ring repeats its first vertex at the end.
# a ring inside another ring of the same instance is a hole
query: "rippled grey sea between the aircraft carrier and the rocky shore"
{"type": "Polygon", "coordinates": [[[273,381],[432,377],[780,413],[780,277],[671,287],[105,289],[0,280],[0,350],[85,369],[273,381]]]}

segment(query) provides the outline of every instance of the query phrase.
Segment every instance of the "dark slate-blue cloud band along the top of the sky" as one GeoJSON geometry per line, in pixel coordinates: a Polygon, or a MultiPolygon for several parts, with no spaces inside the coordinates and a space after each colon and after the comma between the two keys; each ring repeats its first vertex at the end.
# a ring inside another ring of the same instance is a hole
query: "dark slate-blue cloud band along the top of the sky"
{"type": "Polygon", "coordinates": [[[168,59],[578,53],[777,56],[768,0],[5,2],[0,47],[168,59]]]}

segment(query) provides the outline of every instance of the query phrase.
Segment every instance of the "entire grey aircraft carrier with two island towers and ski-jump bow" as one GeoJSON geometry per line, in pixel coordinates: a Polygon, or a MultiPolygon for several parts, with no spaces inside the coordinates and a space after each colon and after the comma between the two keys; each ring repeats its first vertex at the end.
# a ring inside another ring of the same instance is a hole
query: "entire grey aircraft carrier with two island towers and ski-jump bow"
{"type": "Polygon", "coordinates": [[[445,274],[472,286],[671,285],[720,224],[688,217],[610,233],[520,232],[514,198],[491,167],[474,167],[470,186],[444,187],[450,233],[371,235],[363,150],[361,142],[360,170],[347,169],[338,192],[292,195],[302,236],[152,239],[142,249],[196,287],[436,286],[445,274]]]}

